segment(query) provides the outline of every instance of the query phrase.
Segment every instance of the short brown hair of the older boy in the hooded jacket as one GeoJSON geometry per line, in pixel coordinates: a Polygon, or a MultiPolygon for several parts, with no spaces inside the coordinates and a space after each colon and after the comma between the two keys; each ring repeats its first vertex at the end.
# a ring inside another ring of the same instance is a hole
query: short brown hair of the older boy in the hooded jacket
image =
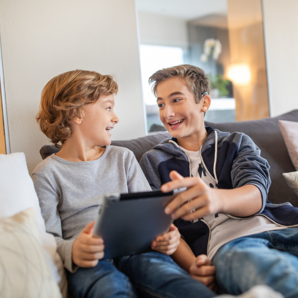
{"type": "Polygon", "coordinates": [[[204,92],[208,94],[210,92],[210,81],[204,70],[197,66],[184,64],[160,69],[149,78],[149,84],[153,84],[152,92],[155,96],[158,84],[171,77],[179,77],[184,81],[195,97],[196,103],[200,102],[204,92]]]}

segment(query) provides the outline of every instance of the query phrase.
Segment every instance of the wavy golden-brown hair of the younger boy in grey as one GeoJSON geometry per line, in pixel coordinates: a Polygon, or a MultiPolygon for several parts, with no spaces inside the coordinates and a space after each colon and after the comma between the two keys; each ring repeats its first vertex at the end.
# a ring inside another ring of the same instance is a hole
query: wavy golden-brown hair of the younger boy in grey
{"type": "Polygon", "coordinates": [[[72,134],[70,121],[83,116],[84,105],[117,91],[118,85],[110,75],[80,69],[64,72],[44,86],[36,120],[51,142],[61,147],[72,134]]]}

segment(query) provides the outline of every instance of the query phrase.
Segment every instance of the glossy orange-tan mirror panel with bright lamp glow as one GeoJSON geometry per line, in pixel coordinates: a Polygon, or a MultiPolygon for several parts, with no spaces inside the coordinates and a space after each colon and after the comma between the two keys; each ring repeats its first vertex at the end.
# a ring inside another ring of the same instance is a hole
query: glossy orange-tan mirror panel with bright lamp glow
{"type": "Polygon", "coordinates": [[[228,0],[231,62],[236,120],[269,117],[267,70],[261,0],[228,0]]]}

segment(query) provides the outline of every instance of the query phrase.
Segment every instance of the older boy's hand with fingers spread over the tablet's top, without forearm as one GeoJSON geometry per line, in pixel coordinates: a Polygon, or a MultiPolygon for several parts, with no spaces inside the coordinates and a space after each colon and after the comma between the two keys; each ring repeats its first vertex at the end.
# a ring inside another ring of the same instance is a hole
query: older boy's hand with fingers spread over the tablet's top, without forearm
{"type": "Polygon", "coordinates": [[[164,210],[166,214],[171,214],[173,219],[182,218],[189,221],[219,213],[221,210],[217,189],[209,187],[200,177],[184,178],[176,171],[171,171],[170,179],[172,181],[162,185],[163,192],[187,187],[187,190],[176,195],[164,210]]]}

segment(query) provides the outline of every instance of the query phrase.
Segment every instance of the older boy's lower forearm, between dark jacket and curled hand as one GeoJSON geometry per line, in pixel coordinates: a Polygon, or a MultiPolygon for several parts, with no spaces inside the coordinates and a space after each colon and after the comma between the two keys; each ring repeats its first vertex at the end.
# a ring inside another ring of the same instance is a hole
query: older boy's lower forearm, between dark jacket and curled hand
{"type": "Polygon", "coordinates": [[[195,262],[195,255],[188,244],[180,238],[180,244],[171,255],[172,259],[185,271],[189,272],[190,266],[195,262]]]}

